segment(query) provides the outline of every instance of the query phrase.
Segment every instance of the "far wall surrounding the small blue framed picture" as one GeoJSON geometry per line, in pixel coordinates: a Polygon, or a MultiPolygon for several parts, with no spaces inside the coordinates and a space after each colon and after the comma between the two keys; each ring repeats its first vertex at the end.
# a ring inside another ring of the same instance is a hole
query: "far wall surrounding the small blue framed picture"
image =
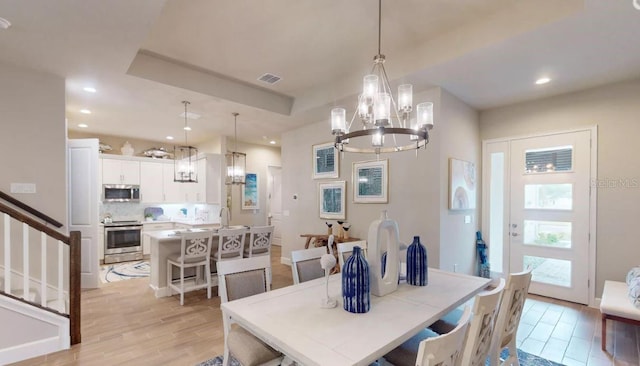
{"type": "MultiPolygon", "coordinates": [[[[235,146],[233,143],[228,143],[227,146],[235,146]]],[[[247,172],[258,174],[258,200],[259,208],[256,210],[242,210],[241,201],[241,186],[230,185],[223,187],[223,191],[229,190],[231,192],[231,223],[233,225],[249,225],[260,226],[267,224],[267,178],[269,166],[281,166],[280,148],[255,145],[238,142],[238,152],[247,154],[247,172]]],[[[222,165],[225,165],[224,156],[222,165]]],[[[226,171],[226,170],[225,170],[226,171]]],[[[224,186],[224,177],[222,178],[222,184],[224,186]]],[[[227,192],[229,192],[227,191],[227,192]]],[[[222,205],[227,202],[223,194],[222,205]]]]}

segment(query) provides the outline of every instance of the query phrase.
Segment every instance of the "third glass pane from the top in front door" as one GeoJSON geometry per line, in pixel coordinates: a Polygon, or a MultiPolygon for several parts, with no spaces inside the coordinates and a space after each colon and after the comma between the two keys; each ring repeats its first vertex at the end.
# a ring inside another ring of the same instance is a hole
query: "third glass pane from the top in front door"
{"type": "Polygon", "coordinates": [[[524,220],[523,244],[571,248],[571,223],[524,220]]]}

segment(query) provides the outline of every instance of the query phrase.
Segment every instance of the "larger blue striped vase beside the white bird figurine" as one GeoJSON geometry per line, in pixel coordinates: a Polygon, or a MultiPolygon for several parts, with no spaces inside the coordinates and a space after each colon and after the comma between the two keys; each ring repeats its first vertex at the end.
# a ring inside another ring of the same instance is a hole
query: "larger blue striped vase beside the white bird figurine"
{"type": "Polygon", "coordinates": [[[366,313],[371,307],[369,264],[357,246],[342,267],[342,300],[351,313],[366,313]]]}

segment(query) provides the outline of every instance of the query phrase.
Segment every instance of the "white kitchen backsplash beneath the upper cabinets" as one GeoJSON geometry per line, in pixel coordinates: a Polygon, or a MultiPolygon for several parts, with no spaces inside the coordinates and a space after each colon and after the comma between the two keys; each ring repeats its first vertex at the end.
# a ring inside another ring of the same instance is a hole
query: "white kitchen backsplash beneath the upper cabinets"
{"type": "Polygon", "coordinates": [[[113,220],[139,220],[144,221],[144,209],[147,207],[161,207],[164,216],[168,220],[172,219],[192,219],[200,221],[218,221],[220,219],[220,206],[207,204],[164,204],[150,205],[147,203],[135,202],[100,202],[98,205],[100,220],[109,213],[113,220]],[[187,210],[185,216],[181,209],[187,210]]]}

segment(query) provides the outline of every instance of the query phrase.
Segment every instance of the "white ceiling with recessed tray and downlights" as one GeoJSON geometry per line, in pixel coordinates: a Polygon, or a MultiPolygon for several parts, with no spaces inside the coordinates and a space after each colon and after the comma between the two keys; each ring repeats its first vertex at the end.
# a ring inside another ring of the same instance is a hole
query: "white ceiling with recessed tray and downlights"
{"type": "MultiPolygon", "coordinates": [[[[633,0],[385,1],[394,82],[486,109],[640,76],[633,0]],[[537,86],[549,76],[553,81],[537,86]]],[[[70,129],[198,144],[282,132],[352,108],[377,53],[375,0],[0,0],[0,62],[67,81],[70,129]],[[257,78],[265,72],[282,80],[257,78]],[[82,90],[92,85],[95,94],[82,90]],[[91,115],[79,113],[82,108],[91,115]]],[[[446,121],[436,121],[446,123],[446,121]]],[[[327,128],[327,140],[330,135],[327,128]]]]}

